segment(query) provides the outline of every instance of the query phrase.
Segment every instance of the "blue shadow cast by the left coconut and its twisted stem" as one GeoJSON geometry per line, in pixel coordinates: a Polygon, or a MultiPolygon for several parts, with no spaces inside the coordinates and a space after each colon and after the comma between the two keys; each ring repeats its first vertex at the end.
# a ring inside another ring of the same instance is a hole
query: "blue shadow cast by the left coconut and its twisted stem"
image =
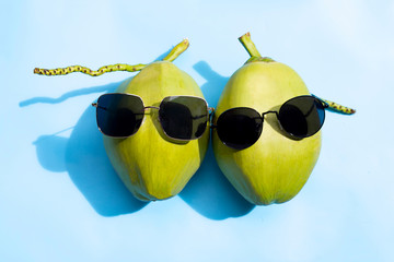
{"type": "MultiPolygon", "coordinates": [[[[35,98],[31,102],[55,104],[77,95],[113,92],[119,84],[83,88],[80,93],[70,92],[62,95],[61,99],[35,98]]],[[[84,111],[69,139],[57,134],[42,135],[34,144],[40,165],[51,171],[68,171],[72,182],[99,214],[129,214],[148,204],[134,198],[113,169],[95,123],[93,107],[84,111]]]]}

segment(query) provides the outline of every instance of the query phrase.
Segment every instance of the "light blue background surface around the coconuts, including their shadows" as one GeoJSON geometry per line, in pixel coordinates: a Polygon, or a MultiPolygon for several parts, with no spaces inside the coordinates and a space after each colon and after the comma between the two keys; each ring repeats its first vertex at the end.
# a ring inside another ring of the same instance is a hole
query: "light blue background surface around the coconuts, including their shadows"
{"type": "Polygon", "coordinates": [[[394,261],[394,1],[0,1],[1,261],[394,261]],[[124,188],[90,106],[135,75],[46,78],[35,67],[175,64],[216,106],[259,51],[327,114],[311,178],[290,202],[253,206],[211,148],[182,193],[142,203],[124,188]]]}

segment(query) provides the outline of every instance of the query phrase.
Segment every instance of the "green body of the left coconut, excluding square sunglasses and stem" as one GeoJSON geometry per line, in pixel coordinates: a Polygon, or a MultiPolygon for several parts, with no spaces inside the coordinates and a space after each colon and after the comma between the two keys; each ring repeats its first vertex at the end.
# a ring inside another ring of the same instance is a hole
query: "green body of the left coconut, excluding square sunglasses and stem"
{"type": "MultiPolygon", "coordinates": [[[[144,67],[117,92],[138,95],[146,106],[159,106],[166,96],[204,98],[197,83],[169,61],[144,67]]],[[[199,168],[209,142],[209,129],[198,140],[178,142],[163,133],[158,110],[149,109],[136,134],[126,139],[104,136],[106,153],[126,187],[140,200],[176,195],[199,168]]]]}

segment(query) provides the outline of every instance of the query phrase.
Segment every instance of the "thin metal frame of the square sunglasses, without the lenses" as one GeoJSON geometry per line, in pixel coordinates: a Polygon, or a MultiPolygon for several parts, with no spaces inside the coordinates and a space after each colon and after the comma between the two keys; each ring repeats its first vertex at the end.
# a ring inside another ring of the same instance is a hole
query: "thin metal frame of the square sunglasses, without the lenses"
{"type": "MultiPolygon", "coordinates": [[[[107,94],[103,94],[103,95],[99,96],[97,102],[92,103],[92,106],[96,108],[96,119],[97,119],[97,109],[100,108],[99,99],[100,99],[100,97],[106,96],[106,95],[127,95],[127,96],[138,97],[138,98],[141,100],[141,103],[142,103],[143,118],[144,118],[144,115],[146,115],[146,110],[147,110],[147,109],[158,109],[158,110],[160,110],[160,107],[161,107],[162,103],[164,102],[164,99],[171,98],[171,97],[192,97],[192,98],[201,99],[201,100],[205,103],[206,108],[207,108],[207,123],[210,123],[210,117],[211,117],[212,112],[215,111],[215,108],[213,108],[213,107],[209,107],[207,100],[204,99],[202,97],[199,97],[199,96],[190,96],[190,95],[166,96],[166,97],[164,97],[164,98],[160,102],[159,107],[157,107],[157,106],[144,106],[143,100],[142,100],[142,97],[140,97],[139,95],[129,94],[129,93],[107,93],[107,94]]],[[[143,118],[141,119],[141,124],[142,124],[143,118]]],[[[163,133],[164,133],[169,139],[176,140],[176,141],[198,140],[198,139],[200,139],[200,138],[204,135],[204,133],[207,131],[207,129],[206,129],[206,130],[201,133],[201,135],[198,136],[198,138],[194,138],[194,139],[189,139],[189,140],[176,139],[176,138],[172,138],[171,135],[169,135],[169,134],[165,132],[165,130],[164,130],[164,128],[163,128],[163,124],[162,124],[162,122],[161,122],[161,120],[160,120],[160,117],[158,117],[158,120],[159,120],[159,122],[160,122],[160,126],[161,126],[161,128],[162,128],[163,133]]],[[[137,131],[136,131],[135,133],[138,132],[138,130],[140,129],[141,124],[138,127],[138,129],[137,129],[137,131]]],[[[102,129],[99,127],[99,124],[97,124],[97,129],[99,129],[99,131],[100,131],[102,134],[104,134],[104,135],[106,135],[106,136],[109,136],[109,138],[114,138],[114,139],[127,139],[127,138],[129,138],[129,136],[131,136],[131,135],[135,134],[135,133],[132,133],[132,134],[130,134],[130,135],[125,135],[125,136],[115,136],[115,135],[105,134],[105,133],[102,131],[102,129]]]]}

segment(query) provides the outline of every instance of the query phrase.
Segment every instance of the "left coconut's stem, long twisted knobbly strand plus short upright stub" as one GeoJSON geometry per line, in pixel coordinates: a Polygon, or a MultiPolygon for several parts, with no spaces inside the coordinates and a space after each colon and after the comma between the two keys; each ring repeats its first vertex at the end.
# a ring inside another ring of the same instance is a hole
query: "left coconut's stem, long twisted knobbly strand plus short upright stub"
{"type": "MultiPolygon", "coordinates": [[[[182,52],[184,52],[187,47],[189,46],[188,39],[184,39],[179,44],[177,44],[170,53],[163,59],[163,61],[174,61],[182,52]]],[[[127,64],[127,63],[116,63],[101,67],[99,70],[91,70],[90,68],[82,67],[82,66],[71,66],[67,68],[58,68],[58,69],[42,69],[35,68],[35,74],[43,74],[43,75],[65,75],[73,72],[81,72],[89,74],[91,76],[99,76],[104,73],[108,72],[116,72],[116,71],[127,71],[127,72],[136,72],[142,70],[147,64],[139,63],[139,64],[127,64]]]]}

